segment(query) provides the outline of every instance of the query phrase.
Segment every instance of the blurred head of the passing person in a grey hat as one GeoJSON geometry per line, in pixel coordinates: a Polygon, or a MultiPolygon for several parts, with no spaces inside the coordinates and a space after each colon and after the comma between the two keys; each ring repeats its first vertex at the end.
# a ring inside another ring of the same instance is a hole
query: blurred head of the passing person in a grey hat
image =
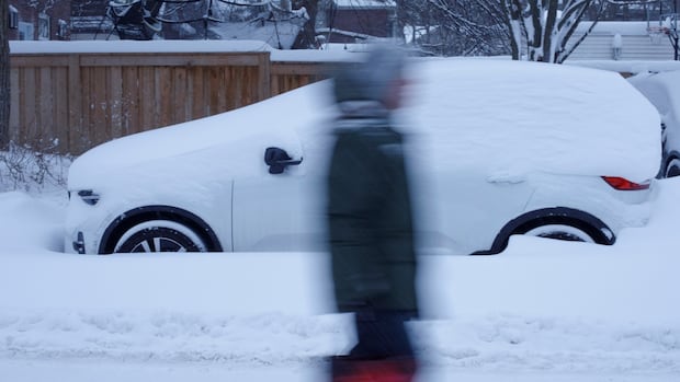
{"type": "Polygon", "coordinates": [[[336,101],[377,101],[386,108],[401,105],[406,55],[394,46],[378,45],[364,61],[342,68],[333,76],[336,101]]]}

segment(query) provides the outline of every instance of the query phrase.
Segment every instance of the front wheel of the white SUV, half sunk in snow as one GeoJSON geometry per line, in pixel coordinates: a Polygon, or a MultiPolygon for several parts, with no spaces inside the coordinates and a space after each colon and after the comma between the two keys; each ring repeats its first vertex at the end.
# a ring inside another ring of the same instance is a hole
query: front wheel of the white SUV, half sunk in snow
{"type": "Polygon", "coordinates": [[[151,220],[131,228],[114,250],[116,253],[205,251],[205,243],[194,231],[170,220],[151,220]]]}

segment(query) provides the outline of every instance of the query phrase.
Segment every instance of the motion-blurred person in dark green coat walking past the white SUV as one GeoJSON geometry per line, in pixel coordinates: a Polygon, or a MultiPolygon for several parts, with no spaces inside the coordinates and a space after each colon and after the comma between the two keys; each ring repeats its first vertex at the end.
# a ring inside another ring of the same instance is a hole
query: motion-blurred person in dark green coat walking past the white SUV
{"type": "Polygon", "coordinates": [[[418,316],[417,257],[401,106],[406,57],[377,47],[339,71],[340,117],[327,183],[336,303],[354,313],[358,343],[331,359],[332,382],[409,382],[416,372],[405,322],[418,316]]]}

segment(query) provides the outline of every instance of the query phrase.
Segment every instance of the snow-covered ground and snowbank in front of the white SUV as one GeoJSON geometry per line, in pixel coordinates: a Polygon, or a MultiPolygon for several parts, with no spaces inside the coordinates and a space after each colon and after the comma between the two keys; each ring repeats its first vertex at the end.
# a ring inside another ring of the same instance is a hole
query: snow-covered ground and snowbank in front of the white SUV
{"type": "MultiPolygon", "coordinates": [[[[659,186],[613,246],[423,256],[419,381],[678,381],[680,178],[659,186]]],[[[0,194],[0,380],[322,381],[351,346],[325,254],[65,254],[64,194],[0,194]]]]}

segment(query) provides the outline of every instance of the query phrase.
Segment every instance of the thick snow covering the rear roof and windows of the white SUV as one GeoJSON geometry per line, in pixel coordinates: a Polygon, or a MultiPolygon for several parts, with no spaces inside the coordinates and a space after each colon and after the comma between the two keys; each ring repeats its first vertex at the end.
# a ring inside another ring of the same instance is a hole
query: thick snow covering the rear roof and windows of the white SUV
{"type": "Polygon", "coordinates": [[[431,60],[419,69],[415,105],[404,114],[437,137],[447,162],[458,162],[449,165],[633,181],[658,171],[658,114],[617,73],[474,59],[431,60]]]}

